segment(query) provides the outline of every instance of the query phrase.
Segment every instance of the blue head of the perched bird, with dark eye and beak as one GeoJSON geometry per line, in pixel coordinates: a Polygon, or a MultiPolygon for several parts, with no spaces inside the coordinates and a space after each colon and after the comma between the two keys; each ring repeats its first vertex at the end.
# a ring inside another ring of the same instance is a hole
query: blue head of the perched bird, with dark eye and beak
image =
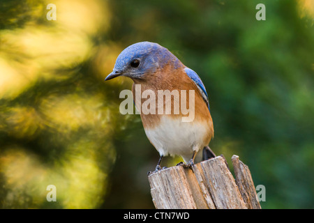
{"type": "Polygon", "coordinates": [[[144,79],[170,61],[179,64],[177,57],[165,47],[150,42],[135,43],[121,52],[105,81],[119,76],[144,79]]]}

